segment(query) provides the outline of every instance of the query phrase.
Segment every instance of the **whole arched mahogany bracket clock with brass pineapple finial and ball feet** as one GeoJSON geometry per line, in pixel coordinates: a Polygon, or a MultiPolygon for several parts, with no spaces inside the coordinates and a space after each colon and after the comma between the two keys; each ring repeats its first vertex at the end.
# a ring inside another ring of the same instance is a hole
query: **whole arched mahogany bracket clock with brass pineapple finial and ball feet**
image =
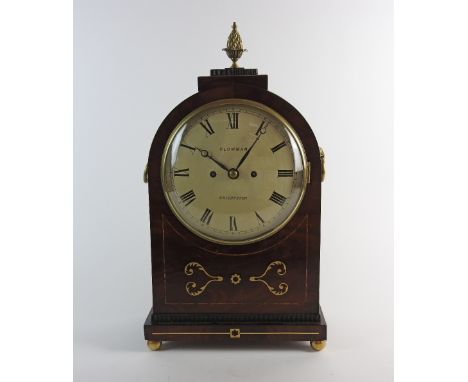
{"type": "Polygon", "coordinates": [[[156,132],[148,183],[153,307],[162,341],[310,341],[325,346],[319,305],[324,156],[302,115],[237,61],[198,77],[198,93],[156,132]]]}

